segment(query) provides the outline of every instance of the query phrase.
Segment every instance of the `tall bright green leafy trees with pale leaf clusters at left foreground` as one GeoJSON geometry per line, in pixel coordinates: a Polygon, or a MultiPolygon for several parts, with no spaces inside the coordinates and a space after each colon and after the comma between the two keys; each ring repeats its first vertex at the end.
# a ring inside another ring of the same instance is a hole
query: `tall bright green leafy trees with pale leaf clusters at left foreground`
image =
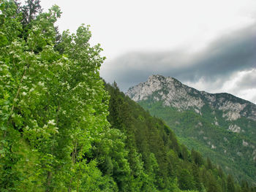
{"type": "Polygon", "coordinates": [[[99,78],[102,49],[89,45],[89,28],[80,26],[76,34],[64,32],[59,53],[59,7],[36,18],[29,12],[29,28],[22,28],[17,9],[13,1],[1,4],[1,191],[83,189],[85,170],[99,173],[84,155],[109,127],[108,96],[99,78]]]}

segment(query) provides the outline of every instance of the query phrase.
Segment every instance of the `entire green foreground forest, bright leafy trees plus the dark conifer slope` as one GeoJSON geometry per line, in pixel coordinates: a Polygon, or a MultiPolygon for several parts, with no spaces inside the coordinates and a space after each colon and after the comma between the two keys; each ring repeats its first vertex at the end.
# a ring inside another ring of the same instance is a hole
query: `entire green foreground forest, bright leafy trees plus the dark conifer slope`
{"type": "Polygon", "coordinates": [[[88,26],[0,1],[0,191],[256,191],[99,77],[88,26]]]}

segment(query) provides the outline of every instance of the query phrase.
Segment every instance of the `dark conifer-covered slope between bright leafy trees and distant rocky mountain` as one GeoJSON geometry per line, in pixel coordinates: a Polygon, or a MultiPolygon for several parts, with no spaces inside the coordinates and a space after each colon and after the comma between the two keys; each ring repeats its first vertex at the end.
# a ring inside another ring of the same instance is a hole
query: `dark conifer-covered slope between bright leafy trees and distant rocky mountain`
{"type": "MultiPolygon", "coordinates": [[[[112,128],[126,133],[128,151],[137,150],[141,154],[144,172],[152,175],[151,164],[157,166],[154,171],[154,187],[159,191],[255,191],[244,180],[239,186],[231,174],[226,175],[222,167],[216,166],[210,158],[195,150],[188,150],[178,142],[173,131],[159,118],[152,117],[139,104],[121,93],[116,83],[106,85],[110,93],[110,115],[108,120],[112,128]],[[154,158],[154,161],[151,161],[154,158]]],[[[128,159],[131,153],[128,153],[128,159]]],[[[132,155],[134,156],[134,155],[132,155]]],[[[131,164],[132,161],[129,161],[131,164]]],[[[146,190],[147,191],[147,190],[146,190]]]]}

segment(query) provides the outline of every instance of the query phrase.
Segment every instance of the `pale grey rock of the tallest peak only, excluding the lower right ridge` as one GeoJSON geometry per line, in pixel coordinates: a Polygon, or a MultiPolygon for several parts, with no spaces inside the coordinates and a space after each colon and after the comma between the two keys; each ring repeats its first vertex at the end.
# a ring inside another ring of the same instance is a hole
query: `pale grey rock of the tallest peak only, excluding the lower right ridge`
{"type": "Polygon", "coordinates": [[[127,91],[127,95],[134,101],[150,99],[153,96],[155,101],[164,101],[165,106],[176,107],[178,110],[195,107],[199,113],[204,103],[199,97],[192,96],[192,93],[200,92],[172,77],[165,78],[161,75],[151,75],[146,82],[140,82],[127,91]]]}

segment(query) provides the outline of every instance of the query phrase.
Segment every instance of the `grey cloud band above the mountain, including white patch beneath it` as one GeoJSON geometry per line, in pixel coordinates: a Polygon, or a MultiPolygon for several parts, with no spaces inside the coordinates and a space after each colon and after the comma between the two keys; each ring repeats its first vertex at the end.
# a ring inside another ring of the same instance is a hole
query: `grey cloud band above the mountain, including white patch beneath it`
{"type": "Polygon", "coordinates": [[[214,39],[203,50],[130,52],[108,61],[102,77],[121,91],[151,74],[174,77],[199,91],[231,93],[256,103],[256,25],[214,39]]]}

